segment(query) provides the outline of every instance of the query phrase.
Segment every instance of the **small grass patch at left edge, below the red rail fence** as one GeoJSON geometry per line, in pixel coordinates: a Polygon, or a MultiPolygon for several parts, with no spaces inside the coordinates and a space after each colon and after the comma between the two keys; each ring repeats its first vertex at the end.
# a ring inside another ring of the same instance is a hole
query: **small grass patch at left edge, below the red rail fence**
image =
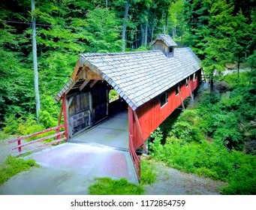
{"type": "Polygon", "coordinates": [[[29,170],[32,166],[39,166],[35,160],[23,160],[17,157],[8,156],[5,165],[0,168],[0,184],[8,181],[19,172],[29,170]]]}

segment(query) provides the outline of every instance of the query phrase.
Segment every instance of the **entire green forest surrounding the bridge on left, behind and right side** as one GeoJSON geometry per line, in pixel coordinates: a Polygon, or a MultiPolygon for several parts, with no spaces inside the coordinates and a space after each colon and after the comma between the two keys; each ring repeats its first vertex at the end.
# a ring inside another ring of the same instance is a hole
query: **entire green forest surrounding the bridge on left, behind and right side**
{"type": "Polygon", "coordinates": [[[256,193],[254,0],[44,0],[35,1],[33,11],[31,0],[0,3],[0,139],[56,126],[60,104],[53,97],[80,53],[151,50],[158,34],[170,34],[200,58],[211,90],[194,110],[164,121],[152,133],[152,157],[227,181],[222,193],[256,193]],[[230,68],[235,73],[226,76],[230,68]]]}

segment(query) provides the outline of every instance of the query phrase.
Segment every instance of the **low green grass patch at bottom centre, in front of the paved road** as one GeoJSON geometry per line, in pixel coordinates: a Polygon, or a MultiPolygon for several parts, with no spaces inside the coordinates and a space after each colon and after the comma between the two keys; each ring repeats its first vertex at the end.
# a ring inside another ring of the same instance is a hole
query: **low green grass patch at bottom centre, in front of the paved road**
{"type": "Polygon", "coordinates": [[[140,185],[128,183],[125,178],[113,180],[111,178],[96,178],[95,183],[89,186],[90,195],[141,195],[143,188],[140,185]]]}

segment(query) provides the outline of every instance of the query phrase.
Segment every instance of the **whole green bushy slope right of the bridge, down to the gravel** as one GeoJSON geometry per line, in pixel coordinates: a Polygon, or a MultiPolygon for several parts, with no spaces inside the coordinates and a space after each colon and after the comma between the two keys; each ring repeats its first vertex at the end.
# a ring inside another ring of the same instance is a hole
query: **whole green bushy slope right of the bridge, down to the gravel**
{"type": "Polygon", "coordinates": [[[164,124],[165,139],[161,128],[155,130],[150,155],[173,168],[227,181],[221,193],[255,194],[256,75],[251,74],[243,73],[239,82],[236,75],[224,77],[228,98],[224,90],[203,92],[194,110],[164,124]]]}

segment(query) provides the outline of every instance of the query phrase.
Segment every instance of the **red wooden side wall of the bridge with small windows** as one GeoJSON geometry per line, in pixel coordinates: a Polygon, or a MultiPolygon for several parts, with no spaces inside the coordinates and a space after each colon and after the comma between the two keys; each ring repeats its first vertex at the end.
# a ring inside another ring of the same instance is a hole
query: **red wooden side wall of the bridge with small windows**
{"type": "MultiPolygon", "coordinates": [[[[200,71],[196,73],[196,79],[193,80],[193,74],[189,77],[189,86],[186,86],[185,80],[182,81],[180,86],[180,92],[182,100],[191,95],[191,92],[197,88],[200,84],[200,71]]],[[[128,107],[129,118],[129,133],[132,136],[135,150],[143,145],[143,142],[150,136],[150,133],[154,131],[173,111],[182,104],[180,95],[176,95],[176,87],[172,87],[168,90],[168,102],[161,107],[159,97],[153,98],[142,107],[136,110],[139,124],[135,120],[134,111],[131,107],[128,107]],[[140,126],[140,128],[139,128],[140,126]],[[140,134],[140,129],[143,133],[143,139],[140,134]]]]}

